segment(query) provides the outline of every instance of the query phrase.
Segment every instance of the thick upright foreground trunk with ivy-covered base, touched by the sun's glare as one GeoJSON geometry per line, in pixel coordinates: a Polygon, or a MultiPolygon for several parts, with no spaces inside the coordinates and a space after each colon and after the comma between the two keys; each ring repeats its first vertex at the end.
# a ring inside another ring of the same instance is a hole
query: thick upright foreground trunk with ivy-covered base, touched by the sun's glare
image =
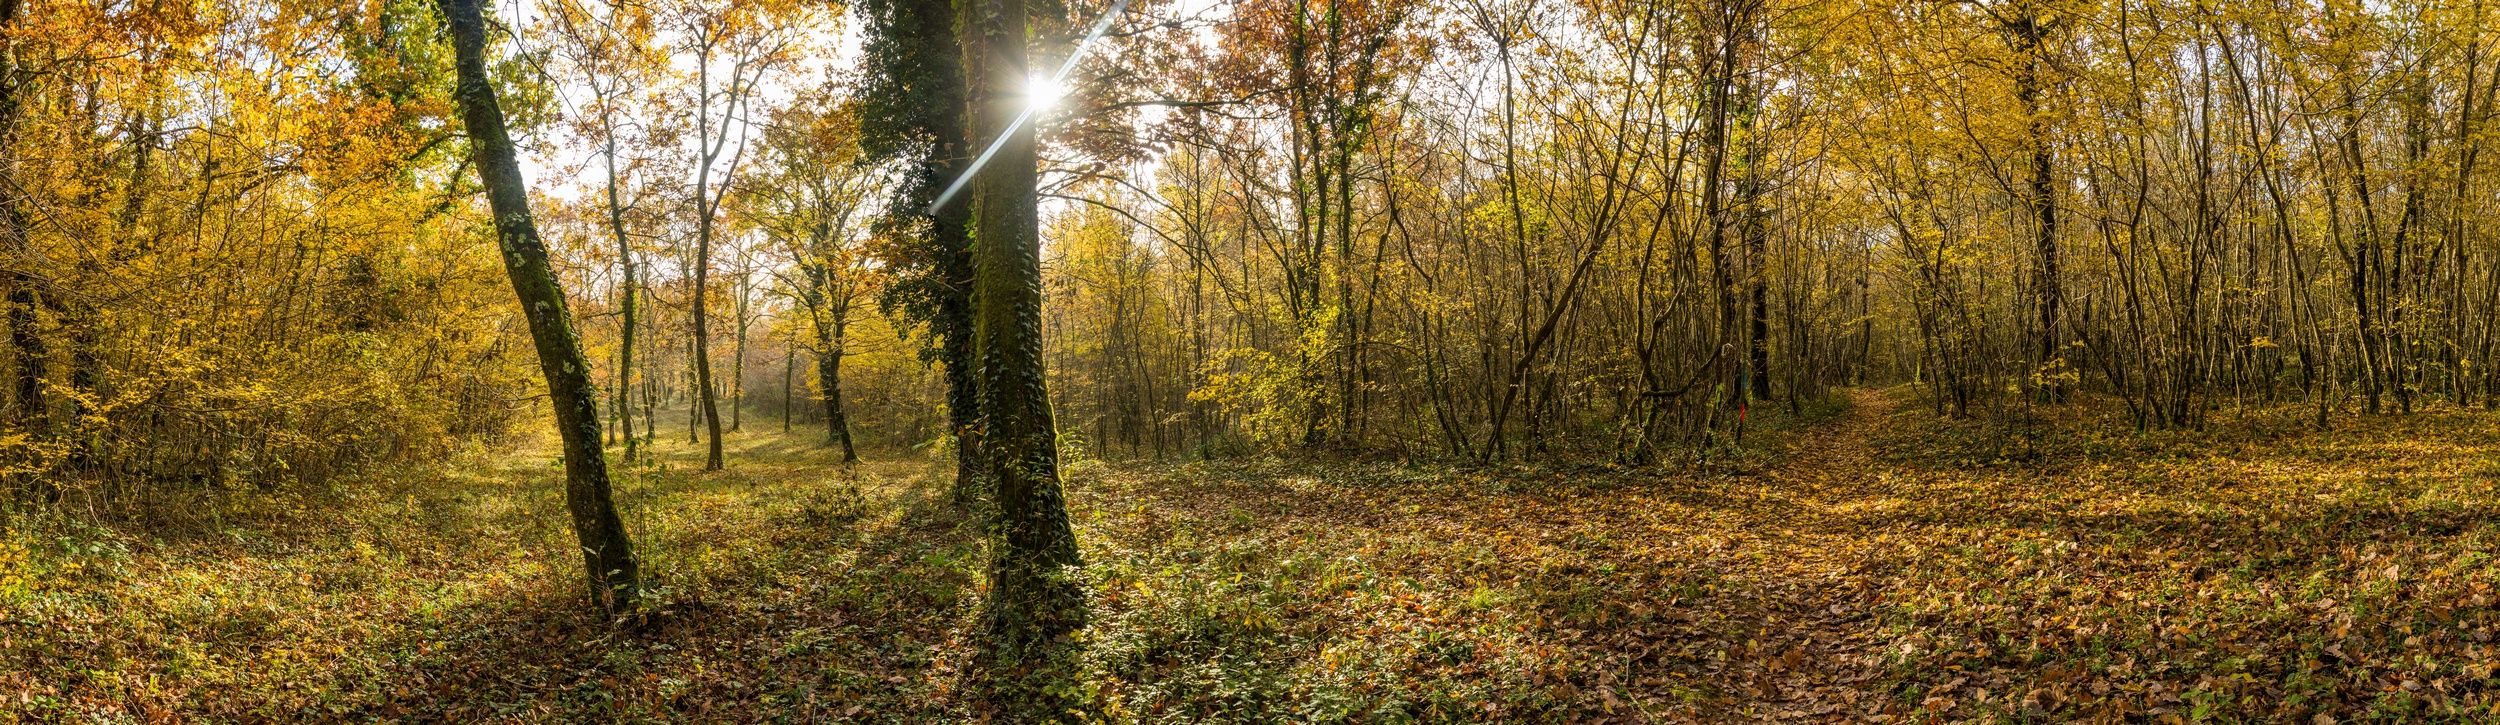
{"type": "MultiPolygon", "coordinates": [[[[1075,582],[1078,545],[1060,495],[1050,390],[1042,382],[1042,275],[1035,218],[1032,125],[1012,125],[1030,72],[1025,0],[965,2],[972,128],[1005,132],[990,168],[975,170],[972,300],[978,300],[982,452],[998,495],[990,525],[990,648],[1002,672],[1040,668],[1085,625],[1075,582]]],[[[1008,682],[1040,698],[1040,690],[1008,682]]]]}

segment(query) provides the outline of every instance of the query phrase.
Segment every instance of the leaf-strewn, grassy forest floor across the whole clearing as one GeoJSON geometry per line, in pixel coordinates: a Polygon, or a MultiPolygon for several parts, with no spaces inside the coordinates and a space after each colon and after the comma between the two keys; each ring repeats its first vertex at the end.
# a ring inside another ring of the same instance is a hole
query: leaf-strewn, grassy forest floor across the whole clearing
{"type": "MultiPolygon", "coordinates": [[[[2492,720],[2500,418],[1902,390],[1742,455],[1072,462],[1102,720],[2492,720]]],[[[988,720],[938,460],[682,438],[620,508],[658,610],[582,612],[558,462],[0,520],[0,720],[988,720]]]]}

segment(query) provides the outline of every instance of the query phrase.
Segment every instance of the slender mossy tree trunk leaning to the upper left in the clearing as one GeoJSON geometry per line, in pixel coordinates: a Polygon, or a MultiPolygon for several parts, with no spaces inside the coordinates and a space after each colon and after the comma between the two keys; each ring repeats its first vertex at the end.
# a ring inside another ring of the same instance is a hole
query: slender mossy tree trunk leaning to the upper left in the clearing
{"type": "Polygon", "coordinates": [[[572,510],[572,535],[580,538],[582,565],[590,572],[590,600],[615,615],[632,608],[640,592],[640,568],[632,558],[632,542],[625,538],[625,522],[608,495],[608,458],[600,450],[600,410],[598,390],[590,385],[590,360],[582,358],[582,340],[572,335],[565,290],[558,288],[555,270],[548,268],[548,245],[538,240],[538,225],[530,220],[530,192],[512,155],[512,138],[505,132],[495,88],[485,78],[485,20],[478,12],[478,0],[442,0],[442,18],[450,20],[452,30],[460,120],[468,125],[478,178],[485,182],[495,212],[502,270],[512,278],[512,292],[530,315],[538,368],[548,375],[555,430],[565,440],[565,505],[572,510]]]}

